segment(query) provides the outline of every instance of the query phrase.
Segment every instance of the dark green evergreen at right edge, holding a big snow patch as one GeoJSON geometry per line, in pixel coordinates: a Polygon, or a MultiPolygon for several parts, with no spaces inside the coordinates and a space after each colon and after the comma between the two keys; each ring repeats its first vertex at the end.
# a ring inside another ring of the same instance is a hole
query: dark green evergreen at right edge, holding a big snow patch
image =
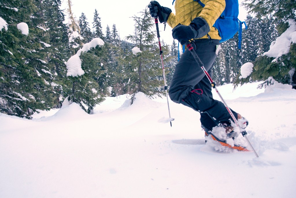
{"type": "MultiPolygon", "coordinates": [[[[275,21],[274,23],[277,25],[276,27],[279,34],[282,34],[288,28],[287,22],[289,19],[296,19],[296,13],[292,11],[296,9],[295,1],[252,0],[244,3],[244,5],[246,8],[250,9],[251,12],[255,13],[258,19],[266,20],[268,23],[270,23],[270,21],[275,21]]],[[[269,31],[267,34],[270,34],[270,32],[273,32],[273,26],[274,24],[263,28],[269,31]]],[[[270,35],[272,36],[262,36],[262,40],[272,39],[272,37],[275,36],[275,34],[270,35]]],[[[292,75],[292,73],[295,74],[294,71],[296,68],[296,58],[293,56],[293,54],[295,54],[295,45],[296,44],[292,44],[289,53],[277,58],[276,61],[273,61],[274,58],[260,56],[254,64],[252,78],[255,80],[266,80],[272,76],[275,80],[281,83],[296,84],[293,80],[295,78],[293,78],[292,75]]]]}

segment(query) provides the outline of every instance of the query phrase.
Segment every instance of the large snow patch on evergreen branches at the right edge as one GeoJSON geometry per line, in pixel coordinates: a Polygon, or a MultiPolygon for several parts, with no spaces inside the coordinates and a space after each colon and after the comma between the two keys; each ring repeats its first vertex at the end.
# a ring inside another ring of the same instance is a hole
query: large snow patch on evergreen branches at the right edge
{"type": "Polygon", "coordinates": [[[294,19],[289,19],[289,28],[281,34],[276,41],[271,43],[270,49],[268,52],[263,53],[263,55],[274,57],[274,62],[279,57],[289,52],[291,42],[296,42],[296,23],[294,19]]]}

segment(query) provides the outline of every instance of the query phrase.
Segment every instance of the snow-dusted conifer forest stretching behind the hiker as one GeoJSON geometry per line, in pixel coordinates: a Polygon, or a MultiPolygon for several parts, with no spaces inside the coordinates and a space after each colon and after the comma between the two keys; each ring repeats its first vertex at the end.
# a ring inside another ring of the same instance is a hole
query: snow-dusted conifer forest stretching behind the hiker
{"type": "MultiPolygon", "coordinates": [[[[106,96],[165,95],[155,23],[147,7],[131,14],[134,30],[120,38],[115,23],[102,31],[97,9],[89,23],[84,13],[76,18],[68,2],[68,9],[62,10],[61,0],[0,1],[1,113],[30,119],[38,110],[60,108],[65,99],[92,113],[106,96]],[[20,23],[28,25],[28,34],[21,31],[20,23]],[[67,61],[94,38],[102,39],[104,45],[81,53],[84,74],[67,75],[67,61]],[[133,53],[134,47],[141,53],[133,53]]],[[[218,85],[236,86],[263,80],[261,86],[268,86],[274,79],[296,88],[296,41],[276,61],[263,55],[287,30],[288,21],[295,23],[295,0],[250,0],[244,7],[250,14],[245,19],[247,29],[243,26],[242,47],[237,47],[238,34],[221,43],[213,80],[218,85]],[[239,78],[240,68],[247,62],[254,64],[253,72],[239,78]]],[[[178,63],[178,41],[172,38],[172,45],[162,42],[162,50],[169,86],[178,63]]]]}

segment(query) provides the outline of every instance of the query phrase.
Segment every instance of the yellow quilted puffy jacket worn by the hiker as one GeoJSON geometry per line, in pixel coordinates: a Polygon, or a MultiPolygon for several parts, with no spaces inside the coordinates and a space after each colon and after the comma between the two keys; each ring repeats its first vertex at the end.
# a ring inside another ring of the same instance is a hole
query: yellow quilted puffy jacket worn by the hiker
{"type": "MultiPolygon", "coordinates": [[[[218,30],[213,25],[225,9],[225,0],[201,0],[201,2],[205,4],[205,7],[193,0],[176,0],[176,14],[170,13],[167,23],[172,28],[179,23],[188,26],[194,18],[202,17],[210,26],[210,32],[208,33],[210,37],[220,40],[218,30]]],[[[207,35],[202,37],[202,39],[204,38],[208,38],[207,35]]]]}

